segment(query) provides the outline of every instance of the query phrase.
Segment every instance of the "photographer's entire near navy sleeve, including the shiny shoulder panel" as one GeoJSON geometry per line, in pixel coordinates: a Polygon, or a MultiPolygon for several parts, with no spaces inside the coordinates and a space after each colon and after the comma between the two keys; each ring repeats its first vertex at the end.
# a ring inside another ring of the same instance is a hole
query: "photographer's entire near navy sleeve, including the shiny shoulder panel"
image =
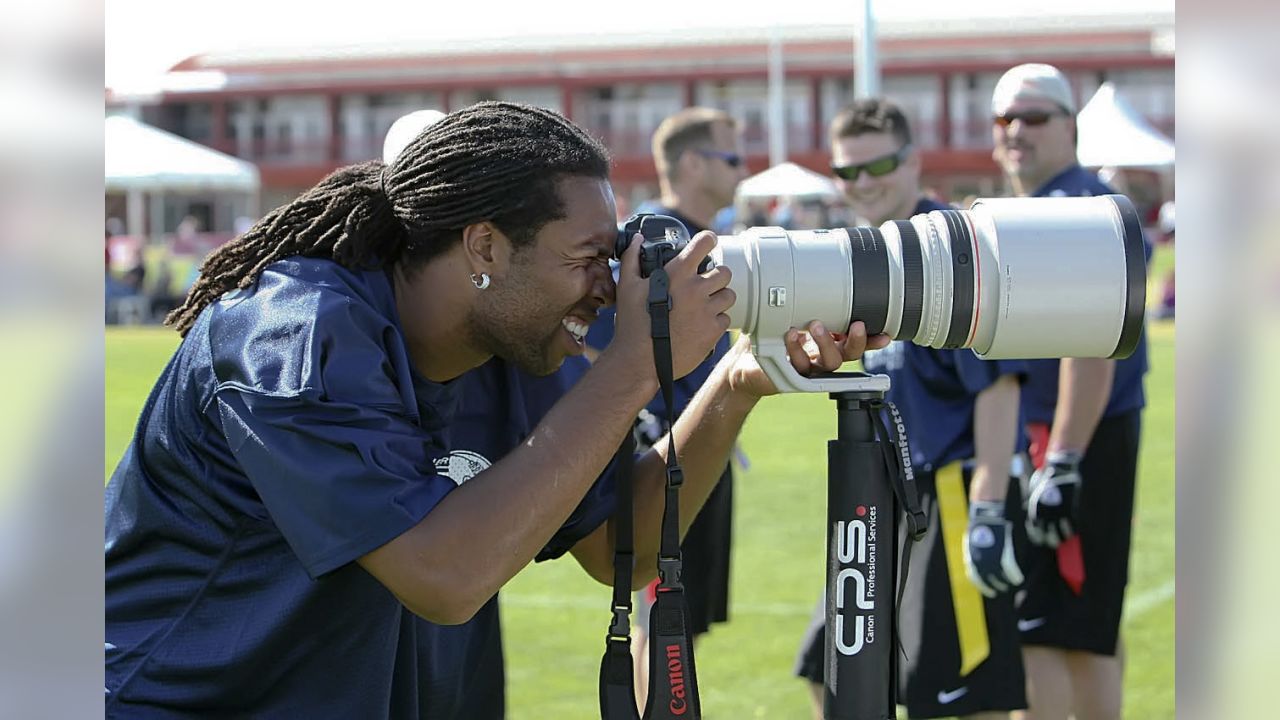
{"type": "Polygon", "coordinates": [[[430,388],[378,307],[266,273],[218,310],[209,415],[312,578],[381,547],[457,487],[436,474],[445,454],[428,428],[445,414],[424,407],[430,388]]]}

